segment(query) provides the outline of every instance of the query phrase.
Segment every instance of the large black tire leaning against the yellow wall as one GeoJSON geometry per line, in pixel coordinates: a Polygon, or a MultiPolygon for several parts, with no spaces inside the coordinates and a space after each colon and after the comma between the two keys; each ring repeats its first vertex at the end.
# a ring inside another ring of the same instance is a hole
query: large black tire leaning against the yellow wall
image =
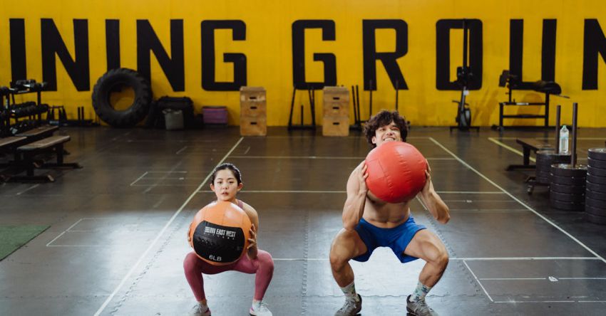
{"type": "Polygon", "coordinates": [[[113,127],[133,127],[148,114],[152,93],[148,80],[135,70],[118,68],[101,76],[93,88],[93,107],[103,120],[113,127]],[[115,110],[111,106],[110,94],[118,85],[128,85],[135,91],[135,100],[126,110],[115,110]]]}

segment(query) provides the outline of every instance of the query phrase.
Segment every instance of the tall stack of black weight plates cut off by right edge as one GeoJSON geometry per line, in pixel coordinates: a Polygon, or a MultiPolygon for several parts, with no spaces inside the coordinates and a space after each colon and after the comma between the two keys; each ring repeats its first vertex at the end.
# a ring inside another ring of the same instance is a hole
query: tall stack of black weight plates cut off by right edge
{"type": "Polygon", "coordinates": [[[606,148],[592,148],[587,153],[587,221],[606,225],[606,148]]]}

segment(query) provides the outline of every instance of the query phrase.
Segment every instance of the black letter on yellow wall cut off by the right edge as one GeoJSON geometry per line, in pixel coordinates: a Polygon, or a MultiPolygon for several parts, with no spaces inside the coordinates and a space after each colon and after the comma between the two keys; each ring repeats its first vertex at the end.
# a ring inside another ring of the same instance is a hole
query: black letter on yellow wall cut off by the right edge
{"type": "Polygon", "coordinates": [[[597,19],[585,19],[583,90],[597,90],[597,54],[606,62],[606,38],[597,19]]]}

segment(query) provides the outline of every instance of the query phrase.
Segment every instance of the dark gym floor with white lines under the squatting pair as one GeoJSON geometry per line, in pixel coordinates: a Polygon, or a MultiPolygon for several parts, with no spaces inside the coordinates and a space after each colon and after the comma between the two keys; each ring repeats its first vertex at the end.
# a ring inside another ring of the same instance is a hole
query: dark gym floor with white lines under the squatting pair
{"type": "MultiPolygon", "coordinates": [[[[260,248],[275,262],[265,301],[274,315],[333,315],[344,297],[329,266],[349,173],[369,152],[364,137],[237,127],[166,132],[63,128],[67,162],[52,184],[0,185],[0,222],[50,225],[0,261],[0,315],[186,315],[195,299],[183,275],[193,215],[212,201],[221,162],[242,170],[239,198],[260,214],[260,248]]],[[[579,162],[604,147],[606,129],[578,133],[579,162]]],[[[433,182],[451,209],[441,225],[420,202],[412,214],[446,244],[451,261],[428,295],[441,315],[603,315],[606,226],[549,206],[547,187],[527,193],[516,137],[413,127],[433,182]],[[512,150],[513,149],[513,150],[512,150]]],[[[40,172],[40,171],[38,171],[40,172]]],[[[351,263],[361,315],[404,315],[423,262],[377,249],[351,263]]],[[[205,276],[213,315],[247,315],[254,275],[205,276]]]]}

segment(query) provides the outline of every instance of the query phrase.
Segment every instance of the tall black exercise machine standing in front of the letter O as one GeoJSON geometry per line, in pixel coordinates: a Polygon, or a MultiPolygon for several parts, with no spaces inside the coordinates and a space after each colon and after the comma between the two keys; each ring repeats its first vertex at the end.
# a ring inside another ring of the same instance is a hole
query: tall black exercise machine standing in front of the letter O
{"type": "Polygon", "coordinates": [[[467,90],[469,80],[473,78],[471,67],[469,66],[469,39],[468,39],[469,28],[467,26],[467,20],[463,19],[463,65],[456,68],[456,83],[461,88],[461,98],[459,100],[453,100],[457,104],[457,112],[455,117],[456,126],[451,126],[450,130],[458,129],[462,131],[468,131],[471,129],[480,131],[480,127],[471,126],[471,109],[469,104],[465,102],[469,90],[467,90]]]}

